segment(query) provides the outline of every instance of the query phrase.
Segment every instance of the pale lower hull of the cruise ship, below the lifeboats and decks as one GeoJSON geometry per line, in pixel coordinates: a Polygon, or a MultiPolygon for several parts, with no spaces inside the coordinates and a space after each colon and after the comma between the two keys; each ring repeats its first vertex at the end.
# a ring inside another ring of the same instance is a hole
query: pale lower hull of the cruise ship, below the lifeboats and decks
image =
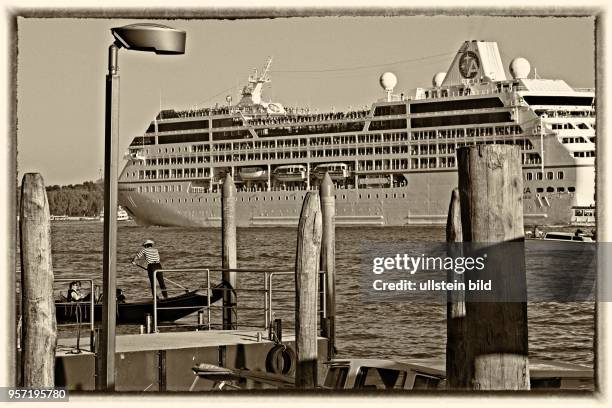
{"type": "MultiPolygon", "coordinates": [[[[411,177],[404,187],[336,189],[336,225],[406,226],[446,223],[456,172],[431,172],[411,177]]],[[[187,185],[186,185],[187,187],[187,185]]],[[[221,194],[137,193],[136,185],[121,183],[119,198],[143,225],[220,227],[221,194]]],[[[306,190],[239,191],[238,227],[296,226],[306,190]]],[[[571,193],[525,194],[526,225],[570,225],[571,193]]]]}

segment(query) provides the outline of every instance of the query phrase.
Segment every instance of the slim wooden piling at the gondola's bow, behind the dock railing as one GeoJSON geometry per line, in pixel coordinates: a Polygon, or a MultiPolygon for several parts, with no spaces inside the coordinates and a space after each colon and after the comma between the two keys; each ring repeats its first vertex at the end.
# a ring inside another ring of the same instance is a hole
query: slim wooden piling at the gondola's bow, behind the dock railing
{"type": "MultiPolygon", "coordinates": [[[[221,193],[221,239],[223,269],[236,269],[236,186],[231,174],[225,176],[221,193]]],[[[236,272],[223,272],[223,282],[236,288],[236,272]]],[[[223,330],[237,329],[236,294],[226,290],[223,295],[223,330]]]]}

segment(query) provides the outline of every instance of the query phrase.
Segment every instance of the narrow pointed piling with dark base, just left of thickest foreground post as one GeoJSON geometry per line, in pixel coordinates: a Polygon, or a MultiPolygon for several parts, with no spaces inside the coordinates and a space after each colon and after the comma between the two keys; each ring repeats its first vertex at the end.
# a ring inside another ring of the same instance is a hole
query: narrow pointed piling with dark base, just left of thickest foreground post
{"type": "MultiPolygon", "coordinates": [[[[460,243],[463,241],[461,233],[461,208],[459,204],[459,190],[451,193],[448,218],[446,220],[446,242],[448,256],[456,258],[462,255],[460,243]]],[[[465,283],[464,274],[456,274],[453,270],[448,272],[449,282],[465,283]]],[[[469,370],[466,359],[466,332],[465,332],[465,292],[449,291],[446,303],[446,378],[447,389],[469,388],[469,370]]]]}

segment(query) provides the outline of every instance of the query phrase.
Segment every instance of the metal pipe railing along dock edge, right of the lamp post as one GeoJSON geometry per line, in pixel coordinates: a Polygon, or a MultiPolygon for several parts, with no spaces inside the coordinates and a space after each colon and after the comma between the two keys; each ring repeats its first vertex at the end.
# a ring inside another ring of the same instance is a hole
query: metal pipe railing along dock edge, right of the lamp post
{"type": "MultiPolygon", "coordinates": [[[[179,268],[179,269],[158,269],[154,272],[153,281],[157,279],[157,274],[176,276],[182,275],[189,277],[193,282],[197,276],[204,281],[195,290],[206,290],[207,304],[204,306],[188,306],[180,308],[191,308],[197,313],[195,323],[183,321],[171,325],[161,325],[158,322],[158,313],[164,309],[176,309],[173,307],[161,307],[157,302],[157,285],[153,288],[153,332],[159,332],[164,328],[191,327],[199,330],[223,329],[222,316],[226,309],[231,310],[233,317],[232,328],[249,328],[269,330],[277,318],[282,318],[283,328],[295,329],[295,271],[289,269],[259,269],[259,268],[179,268]],[[214,287],[211,275],[217,275],[222,281],[223,274],[235,273],[237,282],[235,288],[214,287]],[[243,283],[240,283],[240,282],[243,283]],[[227,292],[232,292],[236,299],[236,304],[217,306],[211,303],[212,291],[221,290],[224,298],[227,292]],[[242,321],[238,319],[242,317],[242,321]],[[215,322],[216,319],[216,322],[215,322]]],[[[325,279],[325,271],[319,271],[319,279],[325,279]]],[[[170,279],[171,284],[177,285],[170,279]]],[[[320,285],[321,289],[318,296],[318,310],[323,317],[326,316],[325,304],[325,285],[320,285]]],[[[177,285],[178,292],[185,291],[185,287],[177,285]]],[[[167,289],[168,293],[171,292],[167,289]]],[[[194,290],[192,288],[189,289],[194,290]]]]}

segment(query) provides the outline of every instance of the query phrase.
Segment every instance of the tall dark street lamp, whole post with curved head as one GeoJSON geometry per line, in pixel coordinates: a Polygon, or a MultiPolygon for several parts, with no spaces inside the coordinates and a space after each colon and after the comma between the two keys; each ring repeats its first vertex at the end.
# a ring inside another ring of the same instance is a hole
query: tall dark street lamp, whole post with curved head
{"type": "Polygon", "coordinates": [[[117,165],[119,157],[119,48],[156,54],[184,54],[186,33],[161,24],[112,28],[108,48],[104,116],[104,253],[102,265],[102,332],[98,343],[96,389],[115,388],[115,324],[117,316],[117,165]]]}

